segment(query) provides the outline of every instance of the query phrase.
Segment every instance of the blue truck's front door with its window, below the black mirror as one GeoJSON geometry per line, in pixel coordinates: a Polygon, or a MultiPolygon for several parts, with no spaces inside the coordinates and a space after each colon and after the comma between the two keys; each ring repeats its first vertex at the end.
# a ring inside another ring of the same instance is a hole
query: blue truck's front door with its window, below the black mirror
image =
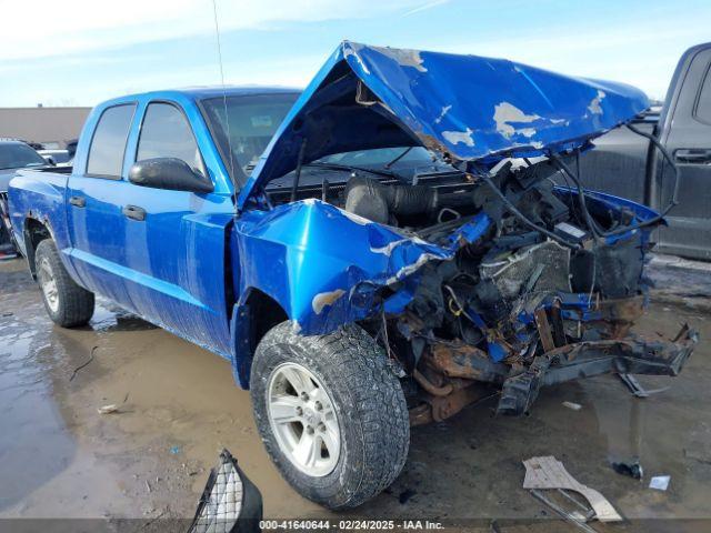
{"type": "MultiPolygon", "coordinates": [[[[134,161],[178,158],[213,174],[184,110],[176,102],[143,108],[134,161]]],[[[212,179],[214,183],[214,179],[212,179]]],[[[196,193],[127,183],[124,264],[133,308],[150,321],[222,355],[229,355],[226,311],[226,227],[234,207],[229,193],[196,193]]]]}

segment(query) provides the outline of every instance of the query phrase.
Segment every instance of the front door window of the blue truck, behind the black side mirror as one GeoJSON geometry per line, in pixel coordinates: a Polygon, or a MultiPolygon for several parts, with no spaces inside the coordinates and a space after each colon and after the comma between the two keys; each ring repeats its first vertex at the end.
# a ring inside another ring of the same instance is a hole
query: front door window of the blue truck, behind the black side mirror
{"type": "Polygon", "coordinates": [[[137,161],[177,158],[206,175],[200,150],[186,115],[170,103],[151,103],[146,110],[137,161]]]}

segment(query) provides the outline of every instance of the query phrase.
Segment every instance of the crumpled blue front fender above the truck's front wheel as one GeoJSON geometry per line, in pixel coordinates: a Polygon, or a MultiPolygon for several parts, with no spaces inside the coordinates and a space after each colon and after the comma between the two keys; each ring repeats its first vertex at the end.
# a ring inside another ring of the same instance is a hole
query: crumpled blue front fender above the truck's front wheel
{"type": "Polygon", "coordinates": [[[251,289],[259,289],[300,333],[329,333],[378,310],[402,312],[424,264],[453,259],[490,225],[482,212],[433,244],[313,199],[250,211],[233,232],[233,260],[242,273],[237,292],[243,303],[251,289]]]}

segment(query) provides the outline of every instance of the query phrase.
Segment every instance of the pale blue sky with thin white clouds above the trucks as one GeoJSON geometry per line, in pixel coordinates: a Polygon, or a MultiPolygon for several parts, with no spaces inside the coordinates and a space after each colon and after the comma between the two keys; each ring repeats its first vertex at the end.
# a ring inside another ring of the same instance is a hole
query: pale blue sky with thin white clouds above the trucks
{"type": "MultiPolygon", "coordinates": [[[[227,83],[303,87],[339,41],[513,59],[662,99],[709,0],[216,0],[227,83]]],[[[0,107],[220,83],[212,0],[0,0],[0,107]]]]}

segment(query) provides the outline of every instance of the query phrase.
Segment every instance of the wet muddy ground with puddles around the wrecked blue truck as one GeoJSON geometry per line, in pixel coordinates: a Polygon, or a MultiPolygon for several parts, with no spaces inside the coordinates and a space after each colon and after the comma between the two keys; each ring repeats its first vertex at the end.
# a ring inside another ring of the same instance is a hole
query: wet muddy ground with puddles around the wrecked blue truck
{"type": "MultiPolygon", "coordinates": [[[[644,521],[711,517],[711,273],[677,266],[658,266],[661,291],[638,329],[671,334],[688,321],[701,332],[680,376],[639,379],[668,390],[640,400],[608,375],[543,390],[527,418],[493,418],[494,400],[470,406],[413,429],[400,477],[349,514],[549,531],[550,510],[521,489],[521,461],[554,455],[631,520],[600,530],[711,524],[644,521]],[[632,456],[642,482],[610,467],[632,456]],[[668,491],[648,489],[658,474],[671,475],[668,491]]],[[[0,263],[0,517],[189,517],[222,447],[261,489],[266,516],[343,516],[280,477],[227,361],[107,302],[87,328],[52,326],[20,260],[0,263]],[[119,411],[99,414],[107,404],[119,411]]]]}

